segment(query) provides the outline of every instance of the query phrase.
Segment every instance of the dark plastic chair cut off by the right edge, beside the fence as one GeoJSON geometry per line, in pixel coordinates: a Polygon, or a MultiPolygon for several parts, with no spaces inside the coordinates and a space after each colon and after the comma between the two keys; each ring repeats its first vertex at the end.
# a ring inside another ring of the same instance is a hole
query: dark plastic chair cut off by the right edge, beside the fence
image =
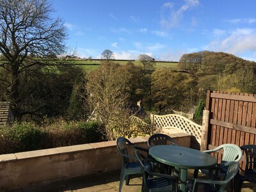
{"type": "Polygon", "coordinates": [[[238,191],[241,191],[244,181],[256,183],[256,145],[244,145],[241,147],[246,156],[245,170],[239,174],[238,191]]]}

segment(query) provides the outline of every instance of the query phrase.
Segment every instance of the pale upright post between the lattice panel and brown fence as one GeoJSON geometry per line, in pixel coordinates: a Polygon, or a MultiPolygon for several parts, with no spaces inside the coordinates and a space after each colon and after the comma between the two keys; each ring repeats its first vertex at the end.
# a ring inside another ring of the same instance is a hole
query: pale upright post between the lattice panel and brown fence
{"type": "Polygon", "coordinates": [[[207,150],[208,144],[208,130],[209,130],[209,110],[203,111],[203,122],[202,122],[202,139],[200,150],[207,150]]]}

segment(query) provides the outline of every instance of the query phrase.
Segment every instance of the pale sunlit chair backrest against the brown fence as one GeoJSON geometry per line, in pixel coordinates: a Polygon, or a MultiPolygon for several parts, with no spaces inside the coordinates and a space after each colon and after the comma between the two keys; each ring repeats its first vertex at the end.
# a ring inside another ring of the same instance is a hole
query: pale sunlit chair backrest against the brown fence
{"type": "Polygon", "coordinates": [[[221,162],[228,162],[228,161],[240,161],[243,155],[243,152],[240,147],[235,144],[223,144],[219,147],[216,147],[214,150],[219,150],[223,148],[223,156],[221,162]]]}

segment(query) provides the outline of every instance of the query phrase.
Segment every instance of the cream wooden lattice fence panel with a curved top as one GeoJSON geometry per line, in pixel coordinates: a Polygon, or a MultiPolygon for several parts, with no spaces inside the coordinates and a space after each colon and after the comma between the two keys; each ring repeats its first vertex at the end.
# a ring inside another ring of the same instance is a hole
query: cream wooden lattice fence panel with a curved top
{"type": "Polygon", "coordinates": [[[198,125],[195,122],[192,122],[188,118],[177,115],[154,115],[150,114],[151,124],[154,126],[154,129],[163,129],[163,128],[177,128],[188,134],[195,136],[198,143],[201,143],[201,134],[202,134],[202,125],[198,125]]]}

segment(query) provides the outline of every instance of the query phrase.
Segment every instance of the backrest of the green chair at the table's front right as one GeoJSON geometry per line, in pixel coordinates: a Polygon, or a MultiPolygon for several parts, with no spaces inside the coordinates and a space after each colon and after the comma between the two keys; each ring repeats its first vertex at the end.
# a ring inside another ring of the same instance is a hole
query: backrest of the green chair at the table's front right
{"type": "Polygon", "coordinates": [[[237,161],[229,161],[224,164],[224,169],[227,168],[227,173],[224,177],[223,185],[220,187],[220,191],[224,191],[228,182],[235,177],[237,172],[239,172],[239,163],[237,161]]]}

